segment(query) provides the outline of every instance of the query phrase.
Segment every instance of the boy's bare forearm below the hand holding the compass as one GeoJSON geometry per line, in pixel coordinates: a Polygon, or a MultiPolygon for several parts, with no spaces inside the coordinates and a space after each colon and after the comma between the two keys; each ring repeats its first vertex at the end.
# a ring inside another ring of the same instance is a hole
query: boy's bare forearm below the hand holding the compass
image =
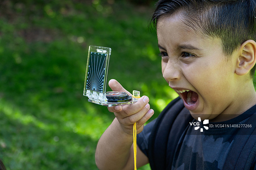
{"type": "Polygon", "coordinates": [[[125,133],[115,118],[98,142],[95,153],[98,168],[123,169],[129,158],[132,143],[132,135],[125,133]]]}

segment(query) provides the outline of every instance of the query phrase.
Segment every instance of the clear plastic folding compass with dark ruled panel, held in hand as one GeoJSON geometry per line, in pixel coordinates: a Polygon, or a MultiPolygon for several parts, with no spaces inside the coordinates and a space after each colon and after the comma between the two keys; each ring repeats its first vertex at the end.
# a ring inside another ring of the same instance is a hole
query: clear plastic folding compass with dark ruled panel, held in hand
{"type": "Polygon", "coordinates": [[[111,48],[89,46],[84,96],[88,101],[103,106],[127,105],[138,101],[139,91],[133,91],[133,96],[125,92],[106,92],[108,79],[108,64],[111,48]]]}

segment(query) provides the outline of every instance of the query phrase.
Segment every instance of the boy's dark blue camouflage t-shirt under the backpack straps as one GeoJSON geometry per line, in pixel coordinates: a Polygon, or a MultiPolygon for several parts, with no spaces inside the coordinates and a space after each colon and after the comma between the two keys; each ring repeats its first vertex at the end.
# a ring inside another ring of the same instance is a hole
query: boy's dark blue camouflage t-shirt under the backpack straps
{"type": "MultiPolygon", "coordinates": [[[[206,130],[202,127],[204,129],[203,132],[195,130],[195,126],[188,125],[180,137],[175,153],[167,153],[174,154],[170,167],[173,170],[223,169],[229,149],[239,130],[239,128],[232,127],[232,125],[244,124],[255,110],[256,105],[231,120],[216,123],[210,122],[208,127],[211,128],[206,130]],[[229,125],[229,127],[219,126],[223,124],[229,125]]],[[[153,120],[148,123],[137,136],[137,144],[146,156],[148,156],[148,140],[155,122],[156,120],[153,120]]],[[[193,120],[193,122],[198,121],[193,120]]],[[[253,169],[256,170],[255,167],[253,169]]]]}

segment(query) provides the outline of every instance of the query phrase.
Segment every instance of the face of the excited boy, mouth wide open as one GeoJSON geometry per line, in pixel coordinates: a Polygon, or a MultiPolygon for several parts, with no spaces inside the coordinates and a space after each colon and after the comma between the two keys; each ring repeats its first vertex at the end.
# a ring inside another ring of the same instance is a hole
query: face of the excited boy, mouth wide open
{"type": "Polygon", "coordinates": [[[177,15],[158,19],[157,38],[163,77],[191,115],[204,120],[229,113],[236,60],[227,60],[220,39],[196,33],[177,15]]]}

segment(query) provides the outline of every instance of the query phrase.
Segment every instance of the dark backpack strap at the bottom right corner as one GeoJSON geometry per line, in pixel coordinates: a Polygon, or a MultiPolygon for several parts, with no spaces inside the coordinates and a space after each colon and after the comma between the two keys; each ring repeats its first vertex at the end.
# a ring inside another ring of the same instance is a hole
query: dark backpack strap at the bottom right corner
{"type": "Polygon", "coordinates": [[[233,144],[228,152],[223,169],[249,170],[256,155],[256,115],[252,115],[244,124],[250,128],[238,131],[233,144]]]}

